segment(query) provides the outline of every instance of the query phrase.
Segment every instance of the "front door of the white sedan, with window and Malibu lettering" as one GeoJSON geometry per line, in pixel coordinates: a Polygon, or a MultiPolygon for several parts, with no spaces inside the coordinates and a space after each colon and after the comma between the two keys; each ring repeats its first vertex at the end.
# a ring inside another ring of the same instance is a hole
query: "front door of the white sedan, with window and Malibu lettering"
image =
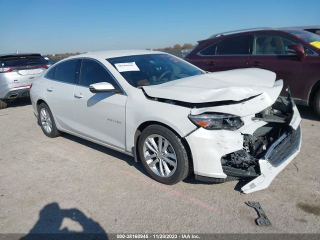
{"type": "Polygon", "coordinates": [[[109,82],[115,89],[120,89],[100,62],[82,59],[79,82],[73,91],[78,132],[93,140],[124,149],[127,97],[123,92],[90,92],[89,85],[97,82],[109,82]]]}

